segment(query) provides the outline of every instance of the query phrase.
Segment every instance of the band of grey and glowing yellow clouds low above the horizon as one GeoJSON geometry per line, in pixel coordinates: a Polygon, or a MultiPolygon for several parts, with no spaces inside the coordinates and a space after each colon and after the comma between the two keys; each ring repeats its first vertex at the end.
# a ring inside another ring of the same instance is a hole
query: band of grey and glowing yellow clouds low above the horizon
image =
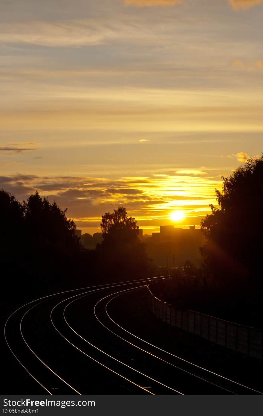
{"type": "MultiPolygon", "coordinates": [[[[187,169],[189,171],[189,169],[187,169]]],[[[39,191],[50,202],[57,201],[61,209],[68,208],[67,215],[86,226],[116,207],[125,206],[137,220],[167,218],[171,209],[183,209],[188,215],[207,207],[214,201],[214,188],[220,181],[211,178],[181,176],[179,174],[156,177],[123,177],[115,180],[81,176],[30,176],[13,175],[0,177],[0,185],[14,193],[19,201],[39,191]],[[136,185],[135,185],[136,184],[136,185]],[[187,187],[187,191],[186,191],[187,187]]]]}

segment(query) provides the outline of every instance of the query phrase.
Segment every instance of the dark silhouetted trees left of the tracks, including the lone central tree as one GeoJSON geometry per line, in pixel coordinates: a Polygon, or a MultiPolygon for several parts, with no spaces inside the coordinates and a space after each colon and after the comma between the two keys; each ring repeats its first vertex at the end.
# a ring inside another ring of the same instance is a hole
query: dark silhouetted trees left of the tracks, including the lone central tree
{"type": "Polygon", "coordinates": [[[32,300],[33,296],[149,274],[144,245],[134,230],[123,228],[128,216],[125,208],[116,210],[120,211],[122,217],[113,215],[103,234],[93,236],[93,250],[88,250],[91,239],[84,235],[81,240],[74,235],[74,221],[66,218],[66,210],[56,202],[50,203],[36,192],[21,203],[1,190],[0,270],[4,292],[12,290],[12,297],[32,300]]]}

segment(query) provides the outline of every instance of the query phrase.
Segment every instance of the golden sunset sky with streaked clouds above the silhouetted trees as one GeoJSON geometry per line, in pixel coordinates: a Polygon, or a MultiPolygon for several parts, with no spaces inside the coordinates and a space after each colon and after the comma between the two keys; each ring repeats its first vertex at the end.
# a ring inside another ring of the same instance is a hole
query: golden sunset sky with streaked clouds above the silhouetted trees
{"type": "Polygon", "coordinates": [[[0,188],[199,225],[263,151],[263,0],[2,0],[0,188]],[[170,214],[182,210],[184,220],[170,214]]]}

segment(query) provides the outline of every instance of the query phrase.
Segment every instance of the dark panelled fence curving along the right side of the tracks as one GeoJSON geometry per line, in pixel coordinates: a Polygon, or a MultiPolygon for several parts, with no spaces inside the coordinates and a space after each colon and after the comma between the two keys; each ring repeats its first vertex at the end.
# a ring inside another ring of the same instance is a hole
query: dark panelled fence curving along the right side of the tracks
{"type": "Polygon", "coordinates": [[[191,310],[181,310],[157,299],[149,287],[148,303],[152,312],[167,324],[199,335],[223,347],[252,357],[263,358],[263,339],[260,329],[245,327],[191,310]]]}

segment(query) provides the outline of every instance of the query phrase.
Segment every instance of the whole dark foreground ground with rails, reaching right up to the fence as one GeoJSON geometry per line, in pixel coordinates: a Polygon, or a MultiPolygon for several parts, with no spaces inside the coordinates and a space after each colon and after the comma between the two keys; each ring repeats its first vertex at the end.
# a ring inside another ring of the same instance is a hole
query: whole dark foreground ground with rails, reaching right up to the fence
{"type": "Polygon", "coordinates": [[[7,342],[17,358],[6,345],[3,393],[262,391],[261,360],[160,321],[147,305],[147,284],[144,280],[86,288],[17,311],[6,327],[7,342]]]}

